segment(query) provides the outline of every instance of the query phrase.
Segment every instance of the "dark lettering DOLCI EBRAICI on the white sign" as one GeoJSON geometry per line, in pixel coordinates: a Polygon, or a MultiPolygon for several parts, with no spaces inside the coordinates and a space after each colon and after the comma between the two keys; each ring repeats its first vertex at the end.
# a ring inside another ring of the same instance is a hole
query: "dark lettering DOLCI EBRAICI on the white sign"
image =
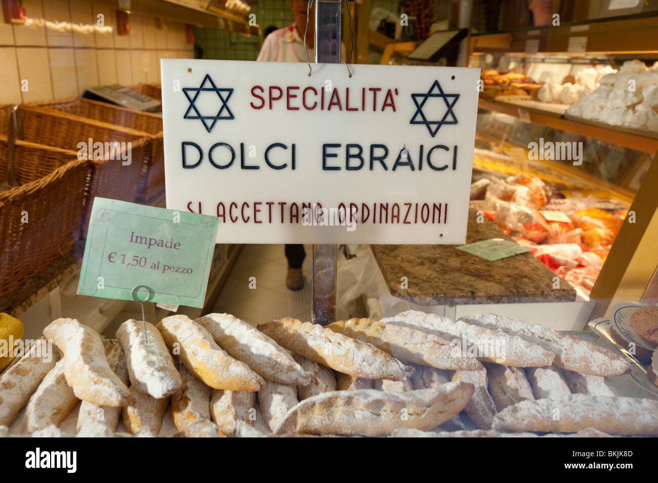
{"type": "MultiPolygon", "coordinates": [[[[272,143],[261,149],[255,145],[240,143],[236,149],[223,141],[205,149],[197,143],[181,143],[181,162],[186,170],[193,170],[207,161],[218,170],[229,168],[240,170],[260,170],[261,166],[272,170],[292,170],[297,168],[297,145],[272,143]],[[258,153],[261,153],[260,155],[258,153]],[[236,162],[240,156],[240,166],[236,162]],[[259,158],[260,156],[260,158],[259,158]],[[265,161],[261,164],[260,160],[265,161]]],[[[362,146],[358,143],[324,143],[319,147],[318,158],[322,171],[390,171],[415,172],[457,170],[457,146],[442,144],[417,147],[401,145],[388,147],[385,144],[362,146]]]]}

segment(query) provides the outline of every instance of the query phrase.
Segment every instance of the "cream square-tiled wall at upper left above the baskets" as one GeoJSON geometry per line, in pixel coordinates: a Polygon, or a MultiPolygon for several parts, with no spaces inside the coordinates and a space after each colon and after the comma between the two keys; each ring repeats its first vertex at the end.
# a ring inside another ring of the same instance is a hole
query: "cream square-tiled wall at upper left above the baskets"
{"type": "MultiPolygon", "coordinates": [[[[87,87],[160,81],[160,58],[193,58],[184,24],[80,0],[22,0],[28,24],[0,23],[0,104],[80,95],[87,87]],[[98,28],[99,14],[105,28],[98,28]],[[163,28],[158,28],[159,26],[163,28]]],[[[0,13],[0,16],[2,14],[0,13]]]]}

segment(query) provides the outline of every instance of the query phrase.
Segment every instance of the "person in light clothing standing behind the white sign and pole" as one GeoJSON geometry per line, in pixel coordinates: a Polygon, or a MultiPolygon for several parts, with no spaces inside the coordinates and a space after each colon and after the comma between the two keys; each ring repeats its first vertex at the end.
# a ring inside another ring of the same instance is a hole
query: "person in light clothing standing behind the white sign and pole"
{"type": "MultiPolygon", "coordinates": [[[[286,28],[274,30],[265,37],[263,47],[256,60],[261,62],[311,62],[315,59],[315,7],[308,8],[306,0],[290,0],[295,21],[286,28]],[[307,9],[309,14],[307,16],[307,9]],[[308,26],[308,27],[307,27],[308,26]],[[308,30],[307,30],[308,28],[308,30]],[[304,33],[306,32],[306,48],[304,33]],[[309,57],[307,58],[307,51],[309,57]]],[[[345,58],[345,48],[340,45],[340,57],[345,58]]],[[[301,244],[286,245],[288,273],[286,287],[290,290],[301,290],[304,287],[304,277],[301,265],[306,258],[304,246],[301,244]]]]}

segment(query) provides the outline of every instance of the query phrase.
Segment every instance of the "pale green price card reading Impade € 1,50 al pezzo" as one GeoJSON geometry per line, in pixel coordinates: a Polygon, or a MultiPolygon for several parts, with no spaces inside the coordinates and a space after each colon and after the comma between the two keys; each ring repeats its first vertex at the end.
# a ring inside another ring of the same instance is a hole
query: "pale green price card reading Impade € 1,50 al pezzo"
{"type": "Polygon", "coordinates": [[[216,232],[213,216],[95,198],[78,294],[202,307],[216,232]]]}

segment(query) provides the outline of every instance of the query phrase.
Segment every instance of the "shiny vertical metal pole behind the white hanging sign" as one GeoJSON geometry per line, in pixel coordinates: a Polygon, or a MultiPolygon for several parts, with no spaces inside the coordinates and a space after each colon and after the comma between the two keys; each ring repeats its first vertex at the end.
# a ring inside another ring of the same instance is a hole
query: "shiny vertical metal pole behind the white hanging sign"
{"type": "MultiPolygon", "coordinates": [[[[315,62],[340,63],[341,5],[341,0],[315,0],[315,62]]],[[[337,269],[338,246],[313,245],[314,324],[336,321],[337,269]]]]}

